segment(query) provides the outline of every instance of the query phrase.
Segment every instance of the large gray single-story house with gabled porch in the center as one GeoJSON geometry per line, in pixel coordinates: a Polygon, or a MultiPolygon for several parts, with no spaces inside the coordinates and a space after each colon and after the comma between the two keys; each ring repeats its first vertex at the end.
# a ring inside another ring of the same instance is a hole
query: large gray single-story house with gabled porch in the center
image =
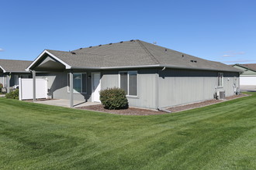
{"type": "Polygon", "coordinates": [[[232,66],[141,40],[89,46],[71,52],[45,49],[26,71],[44,73],[49,97],[99,102],[99,91],[119,87],[129,105],[160,109],[189,104],[239,89],[232,66]]]}

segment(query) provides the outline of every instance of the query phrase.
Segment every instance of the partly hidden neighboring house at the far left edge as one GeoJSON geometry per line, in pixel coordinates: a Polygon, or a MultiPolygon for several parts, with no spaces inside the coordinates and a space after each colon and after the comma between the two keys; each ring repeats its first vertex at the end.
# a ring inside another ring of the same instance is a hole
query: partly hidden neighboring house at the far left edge
{"type": "Polygon", "coordinates": [[[9,93],[10,88],[19,85],[19,77],[32,77],[31,73],[26,71],[30,63],[32,61],[0,59],[0,83],[7,89],[7,93],[9,93]]]}

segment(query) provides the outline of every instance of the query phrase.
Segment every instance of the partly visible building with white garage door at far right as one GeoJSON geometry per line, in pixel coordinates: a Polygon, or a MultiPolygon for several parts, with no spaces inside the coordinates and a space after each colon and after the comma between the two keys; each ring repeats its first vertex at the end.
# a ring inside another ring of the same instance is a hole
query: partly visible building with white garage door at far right
{"type": "Polygon", "coordinates": [[[241,86],[256,86],[256,63],[234,64],[233,66],[244,71],[240,74],[241,86]]]}

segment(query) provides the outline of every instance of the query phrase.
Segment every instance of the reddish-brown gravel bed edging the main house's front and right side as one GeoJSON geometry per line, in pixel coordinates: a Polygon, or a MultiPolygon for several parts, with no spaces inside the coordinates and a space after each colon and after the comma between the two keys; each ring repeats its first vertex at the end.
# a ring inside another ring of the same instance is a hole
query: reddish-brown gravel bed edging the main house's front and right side
{"type": "MultiPolygon", "coordinates": [[[[218,103],[222,103],[228,100],[234,100],[240,97],[247,97],[249,95],[247,94],[240,94],[237,96],[232,96],[232,97],[226,97],[225,100],[206,100],[206,101],[202,101],[202,102],[197,102],[194,104],[185,104],[185,105],[180,105],[180,106],[176,106],[176,107],[168,107],[166,110],[170,110],[171,113],[177,113],[180,111],[185,111],[185,110],[191,110],[191,109],[195,109],[195,108],[199,108],[199,107],[206,107],[209,105],[213,105],[213,104],[218,104],[218,103]]],[[[158,110],[150,110],[150,109],[142,109],[142,108],[138,108],[138,107],[129,107],[128,109],[123,109],[123,110],[108,110],[106,108],[104,108],[104,106],[102,104],[98,104],[98,105],[92,105],[92,106],[86,106],[86,107],[77,107],[78,109],[81,110],[93,110],[93,111],[99,111],[102,113],[108,113],[108,114],[120,114],[120,115],[154,115],[154,114],[169,114],[166,112],[162,112],[162,111],[158,111],[158,110]]]]}

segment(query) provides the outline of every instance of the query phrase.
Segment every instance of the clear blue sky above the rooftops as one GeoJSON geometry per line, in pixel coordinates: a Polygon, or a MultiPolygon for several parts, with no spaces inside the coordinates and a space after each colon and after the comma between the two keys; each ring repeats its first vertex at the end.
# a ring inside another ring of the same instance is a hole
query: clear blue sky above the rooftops
{"type": "Polygon", "coordinates": [[[222,63],[256,63],[256,1],[0,2],[0,59],[140,39],[222,63]]]}

